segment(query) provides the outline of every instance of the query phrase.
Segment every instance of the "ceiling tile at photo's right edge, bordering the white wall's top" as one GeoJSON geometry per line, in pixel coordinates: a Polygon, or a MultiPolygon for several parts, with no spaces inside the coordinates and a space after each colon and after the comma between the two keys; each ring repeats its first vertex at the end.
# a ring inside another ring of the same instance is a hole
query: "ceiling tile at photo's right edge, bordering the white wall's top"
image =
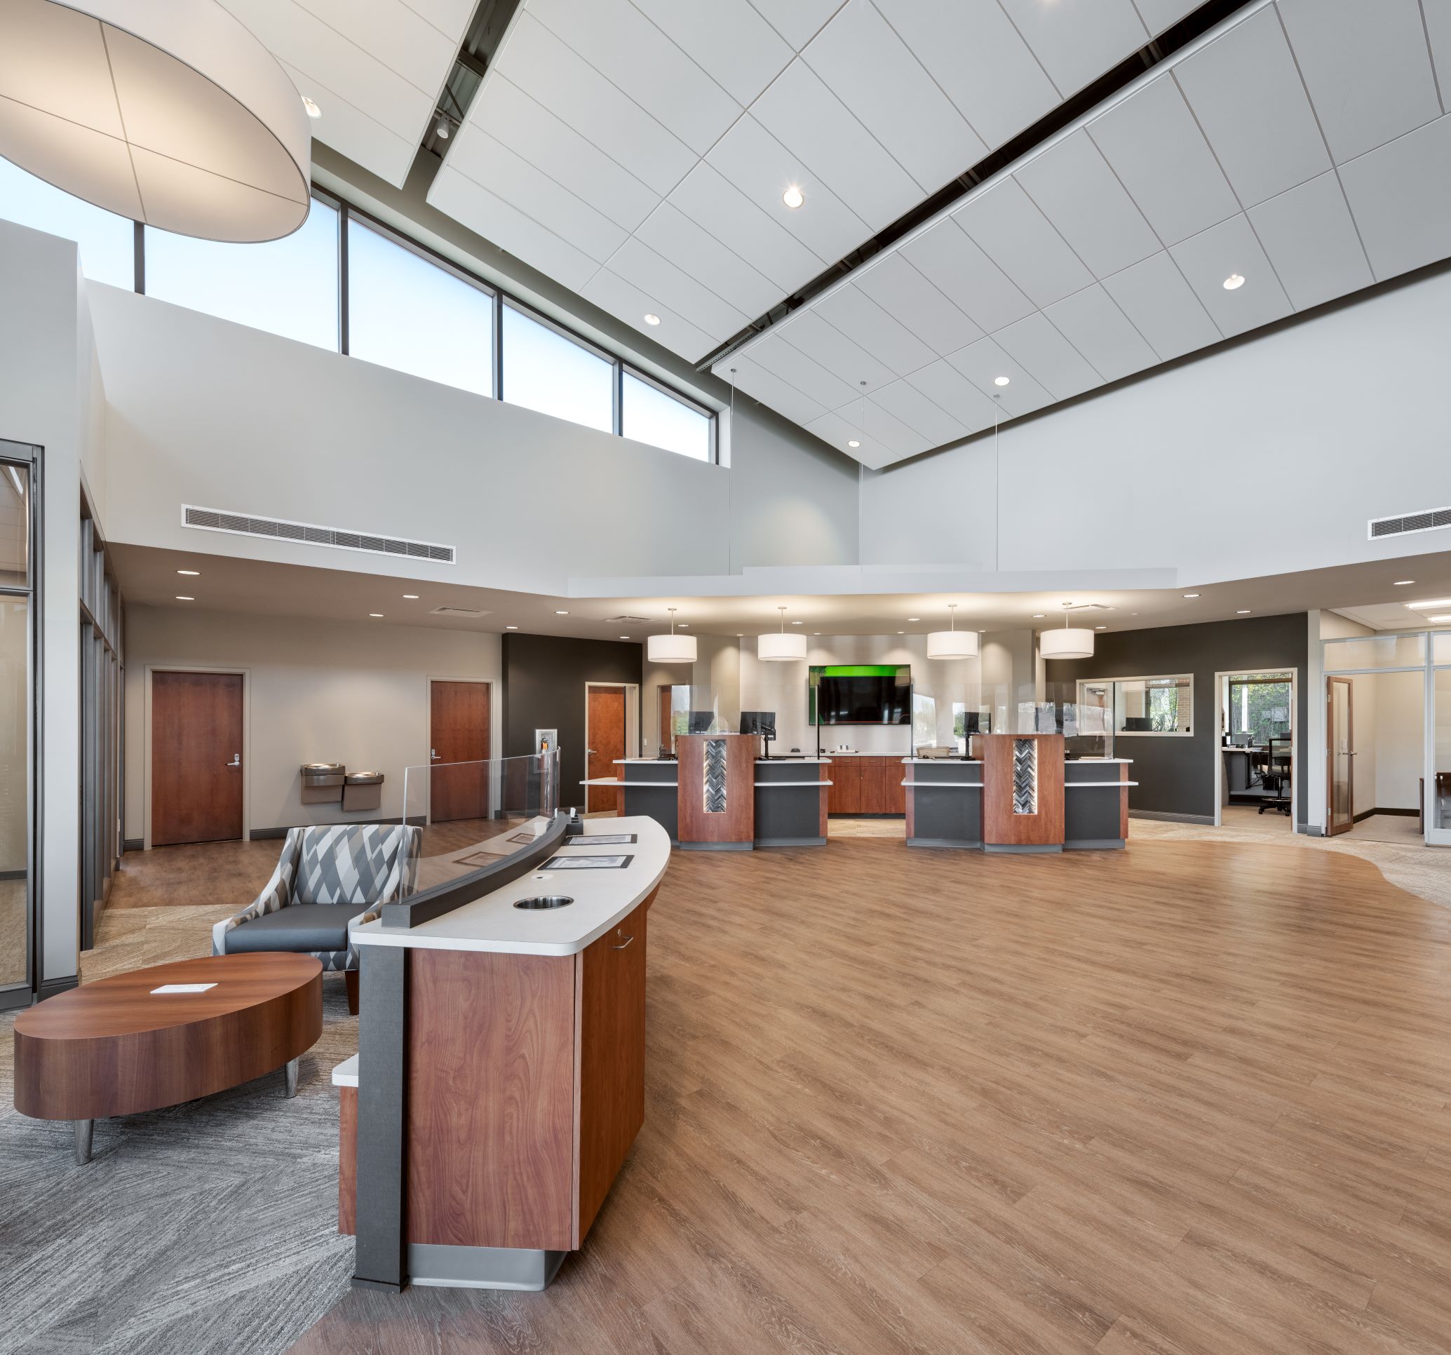
{"type": "Polygon", "coordinates": [[[1377,279],[1445,258],[1451,244],[1451,116],[1341,167],[1377,279]]]}

